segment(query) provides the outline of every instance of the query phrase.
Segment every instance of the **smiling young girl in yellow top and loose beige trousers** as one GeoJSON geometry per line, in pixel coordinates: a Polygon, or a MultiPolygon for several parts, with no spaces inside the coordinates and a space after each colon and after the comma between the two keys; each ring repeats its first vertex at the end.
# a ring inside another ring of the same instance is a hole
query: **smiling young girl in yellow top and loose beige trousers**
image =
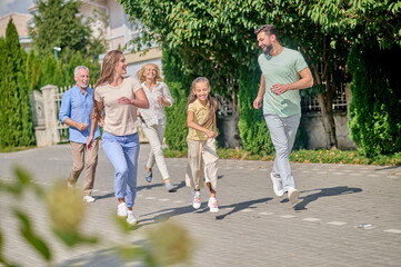
{"type": "Polygon", "coordinates": [[[203,187],[203,176],[210,190],[208,206],[211,212],[218,212],[215,200],[218,155],[215,152],[215,111],[218,102],[210,96],[210,83],[204,77],[192,81],[192,91],[187,103],[187,125],[189,132],[188,166],[186,182],[193,188],[192,207],[199,209],[201,206],[200,189],[203,187]]]}

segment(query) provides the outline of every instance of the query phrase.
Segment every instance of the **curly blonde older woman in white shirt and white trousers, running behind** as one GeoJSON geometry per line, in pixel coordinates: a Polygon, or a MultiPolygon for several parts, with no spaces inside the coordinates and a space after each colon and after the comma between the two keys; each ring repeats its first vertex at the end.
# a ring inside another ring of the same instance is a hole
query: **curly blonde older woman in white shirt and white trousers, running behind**
{"type": "Polygon", "coordinates": [[[149,100],[149,109],[139,109],[141,118],[141,127],[144,136],[149,140],[151,150],[148,162],[146,164],[146,180],[152,181],[152,168],[154,162],[158,165],[159,171],[164,180],[164,186],[168,191],[174,191],[176,187],[170,182],[170,175],[167,170],[162,142],[166,131],[166,113],[164,106],[171,107],[174,100],[172,99],[169,87],[162,81],[160,77],[159,67],[154,63],[146,63],[137,73],[139,80],[142,82],[144,93],[149,100]]]}

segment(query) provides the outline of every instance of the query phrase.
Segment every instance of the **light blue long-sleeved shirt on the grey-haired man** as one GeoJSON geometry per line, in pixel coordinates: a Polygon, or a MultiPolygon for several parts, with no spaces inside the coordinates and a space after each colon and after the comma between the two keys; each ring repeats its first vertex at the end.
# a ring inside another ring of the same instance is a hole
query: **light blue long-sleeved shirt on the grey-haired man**
{"type": "MultiPolygon", "coordinates": [[[[83,122],[88,125],[88,128],[83,131],[78,130],[76,127],[70,126],[70,141],[87,144],[93,108],[93,89],[87,88],[87,93],[83,95],[82,90],[74,86],[70,90],[62,95],[61,107],[59,112],[59,120],[64,122],[67,118],[70,118],[77,122],[83,122]]],[[[100,136],[99,127],[96,127],[94,138],[100,136]]]]}

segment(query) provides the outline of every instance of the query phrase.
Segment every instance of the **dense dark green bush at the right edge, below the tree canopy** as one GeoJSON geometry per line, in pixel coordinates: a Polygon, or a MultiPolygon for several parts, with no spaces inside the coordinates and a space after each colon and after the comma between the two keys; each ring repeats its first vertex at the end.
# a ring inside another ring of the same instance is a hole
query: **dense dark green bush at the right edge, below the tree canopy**
{"type": "Polygon", "coordinates": [[[401,151],[401,82],[393,60],[401,48],[380,51],[357,46],[349,58],[353,76],[349,123],[361,154],[372,157],[401,151]]]}

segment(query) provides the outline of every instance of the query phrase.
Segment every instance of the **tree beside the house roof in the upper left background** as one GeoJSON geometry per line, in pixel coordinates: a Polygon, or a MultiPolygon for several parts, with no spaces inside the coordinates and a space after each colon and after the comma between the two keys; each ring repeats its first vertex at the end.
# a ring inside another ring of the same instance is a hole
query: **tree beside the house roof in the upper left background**
{"type": "Polygon", "coordinates": [[[81,1],[37,0],[36,3],[29,32],[40,59],[53,53],[54,47],[61,48],[60,59],[67,62],[77,51],[91,60],[98,60],[99,53],[106,51],[104,40],[92,36],[92,19],[79,14],[81,1]]]}

